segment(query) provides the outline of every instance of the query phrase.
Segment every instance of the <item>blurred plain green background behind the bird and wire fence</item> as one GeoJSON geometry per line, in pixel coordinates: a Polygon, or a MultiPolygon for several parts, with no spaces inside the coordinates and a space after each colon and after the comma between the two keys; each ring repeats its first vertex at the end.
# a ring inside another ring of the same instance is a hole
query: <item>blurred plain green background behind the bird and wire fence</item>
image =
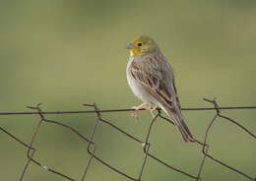
{"type": "MultiPolygon", "coordinates": [[[[223,106],[256,105],[256,1],[0,1],[0,111],[28,111],[43,102],[45,111],[129,108],[141,103],[126,82],[129,53],[125,45],[140,34],[152,36],[176,73],[182,107],[212,106],[202,97],[218,97],[223,106]]],[[[223,111],[255,131],[255,110],[223,111]]],[[[183,111],[191,131],[203,140],[214,111],[183,111]]],[[[145,139],[150,115],[139,121],[129,112],[103,117],[145,139]]],[[[47,116],[89,137],[95,115],[47,116]]],[[[29,143],[38,116],[1,116],[0,126],[29,143]]],[[[19,180],[26,150],[0,134],[0,180],[19,180]]],[[[142,147],[100,124],[96,154],[137,177],[142,147]]],[[[172,166],[196,175],[201,148],[181,142],[170,124],[157,121],[151,152],[172,166]]],[[[219,119],[209,138],[210,153],[255,176],[256,145],[240,128],[219,119]]],[[[42,124],[34,157],[42,164],[81,180],[87,144],[61,127],[42,124]]],[[[203,180],[246,180],[210,159],[203,180]]],[[[31,164],[24,180],[63,178],[31,164]]],[[[93,160],[87,180],[128,180],[93,160]]],[[[192,180],[149,159],[142,180],[192,180]]]]}

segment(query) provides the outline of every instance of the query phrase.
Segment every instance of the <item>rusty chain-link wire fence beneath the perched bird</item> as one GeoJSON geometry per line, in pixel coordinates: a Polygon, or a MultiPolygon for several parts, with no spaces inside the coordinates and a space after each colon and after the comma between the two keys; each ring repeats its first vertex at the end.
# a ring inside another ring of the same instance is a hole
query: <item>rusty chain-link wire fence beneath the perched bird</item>
{"type": "MultiPolygon", "coordinates": [[[[40,103],[37,104],[36,106],[28,106],[28,108],[32,109],[32,110],[35,110],[35,111],[31,111],[31,112],[2,112],[0,113],[0,116],[6,116],[6,115],[24,115],[24,114],[38,114],[39,115],[39,121],[36,125],[36,127],[34,128],[34,131],[33,131],[33,134],[32,134],[32,140],[31,142],[28,144],[28,143],[25,143],[23,142],[22,140],[20,140],[19,138],[17,138],[14,134],[10,133],[9,131],[7,131],[6,129],[4,129],[3,127],[0,127],[0,130],[7,134],[10,138],[12,138],[12,140],[16,141],[18,144],[22,145],[25,149],[27,149],[27,157],[28,157],[28,160],[25,164],[25,167],[23,168],[22,170],[22,174],[20,176],[20,181],[24,181],[24,175],[28,172],[28,167],[34,163],[36,165],[38,165],[39,167],[41,167],[42,169],[45,169],[49,172],[52,172],[56,175],[59,175],[61,176],[64,180],[71,180],[71,181],[75,181],[74,178],[71,178],[70,176],[68,176],[67,174],[65,173],[61,173],[53,168],[50,168],[46,165],[43,165],[42,163],[40,163],[37,159],[33,158],[35,152],[36,152],[36,149],[33,147],[33,143],[34,143],[34,140],[37,136],[37,133],[38,133],[38,130],[40,128],[40,126],[42,124],[55,124],[57,126],[60,126],[60,127],[63,127],[64,129],[67,129],[67,130],[70,130],[72,131],[73,133],[75,133],[78,137],[80,137],[81,139],[83,139],[87,144],[88,144],[88,147],[87,147],[87,151],[90,155],[89,159],[88,159],[88,162],[87,162],[87,165],[85,165],[86,169],[83,173],[83,176],[81,178],[82,181],[85,181],[86,178],[87,178],[87,173],[89,171],[89,169],[92,167],[92,160],[95,159],[96,161],[100,162],[101,164],[103,164],[105,167],[108,167],[110,168],[112,171],[116,172],[117,174],[120,174],[124,177],[126,177],[128,180],[134,180],[134,181],[141,181],[142,180],[142,175],[143,175],[143,172],[144,172],[144,169],[145,169],[145,165],[148,163],[147,160],[149,158],[151,159],[155,159],[156,161],[158,161],[160,164],[164,165],[165,167],[169,168],[169,170],[172,170],[172,171],[175,171],[175,172],[178,172],[180,174],[183,174],[185,175],[187,178],[191,179],[191,180],[202,180],[202,170],[205,166],[205,160],[208,158],[208,159],[211,159],[219,164],[221,164],[222,166],[224,166],[225,168],[227,168],[228,170],[232,171],[232,172],[236,172],[237,174],[240,174],[242,177],[244,177],[245,180],[254,180],[256,181],[256,177],[255,175],[248,175],[246,174],[243,170],[238,170],[236,169],[234,166],[232,165],[228,165],[227,163],[225,163],[224,161],[220,160],[219,158],[209,154],[209,149],[210,149],[210,145],[208,143],[208,137],[209,137],[209,133],[210,133],[210,130],[212,129],[212,126],[214,124],[214,122],[218,119],[218,118],[224,118],[224,120],[226,121],[229,121],[230,123],[236,125],[237,127],[240,128],[241,131],[244,131],[246,132],[249,136],[252,137],[252,139],[256,139],[256,136],[255,134],[253,134],[251,131],[249,131],[247,128],[245,128],[244,126],[242,126],[240,123],[234,121],[233,119],[229,118],[229,117],[226,117],[224,116],[222,113],[221,113],[221,110],[222,109],[256,109],[256,106],[237,106],[237,107],[220,107],[218,105],[218,102],[216,101],[216,99],[207,99],[207,98],[204,98],[204,100],[212,103],[214,105],[214,107],[206,107],[206,108],[183,108],[182,110],[193,110],[193,111],[203,111],[203,110],[214,110],[216,112],[216,114],[214,115],[214,117],[212,118],[212,121],[210,122],[210,124],[208,125],[206,131],[205,131],[205,137],[204,137],[204,141],[200,142],[198,140],[196,140],[195,144],[198,144],[202,147],[202,160],[200,162],[200,166],[199,166],[199,169],[198,169],[198,172],[197,174],[191,174],[191,173],[188,173],[184,170],[181,170],[175,166],[172,166],[170,165],[169,163],[167,163],[165,160],[162,160],[160,159],[157,155],[155,154],[152,154],[150,152],[150,148],[151,148],[151,144],[149,142],[150,140],[150,134],[151,134],[151,131],[152,131],[152,128],[154,126],[154,123],[156,122],[156,119],[157,118],[160,118],[162,120],[165,120],[171,124],[173,124],[173,122],[166,118],[166,117],[163,117],[162,114],[160,113],[160,110],[158,110],[158,113],[157,115],[155,116],[155,118],[153,118],[153,120],[151,121],[151,124],[149,126],[149,129],[148,129],[148,132],[147,132],[147,136],[146,136],[146,139],[145,140],[141,140],[141,139],[138,139],[136,138],[135,136],[127,133],[125,130],[119,128],[118,126],[116,126],[115,124],[111,123],[111,121],[109,120],[106,120],[104,118],[102,118],[102,115],[101,113],[103,112],[112,112],[112,113],[115,113],[115,112],[120,112],[120,111],[131,111],[132,109],[115,109],[115,110],[100,110],[96,103],[94,104],[84,104],[85,106],[87,107],[92,107],[94,108],[94,110],[85,110],[85,111],[54,111],[54,112],[44,112],[41,110],[40,108],[40,103]],[[92,130],[92,134],[90,137],[86,137],[84,136],[83,134],[79,133],[76,129],[74,129],[73,127],[67,125],[67,124],[63,124],[59,121],[55,121],[55,120],[50,120],[50,119],[47,119],[46,118],[46,115],[47,114],[89,114],[89,113],[95,113],[96,114],[96,123],[95,123],[95,126],[92,130]],[[112,127],[113,129],[115,129],[116,131],[120,132],[121,134],[125,135],[127,137],[127,139],[132,139],[134,142],[136,143],[139,143],[143,146],[143,151],[144,151],[144,159],[143,159],[143,162],[142,162],[142,167],[140,168],[140,171],[139,171],[139,175],[137,175],[136,177],[133,176],[133,175],[129,175],[128,173],[126,173],[125,171],[123,170],[120,170],[118,167],[114,167],[113,165],[109,164],[106,160],[104,160],[103,158],[97,156],[96,154],[96,148],[97,148],[97,144],[96,142],[94,141],[94,138],[95,138],[95,134],[96,134],[96,129],[98,127],[98,124],[106,124],[110,127],[112,127]]],[[[142,109],[144,110],[144,109],[142,109]]],[[[174,125],[174,124],[173,124],[174,125]]],[[[1,164],[1,163],[0,163],[1,164]]],[[[255,165],[256,166],[256,165],[255,165]]],[[[29,173],[28,173],[29,174],[29,173]]]]}

